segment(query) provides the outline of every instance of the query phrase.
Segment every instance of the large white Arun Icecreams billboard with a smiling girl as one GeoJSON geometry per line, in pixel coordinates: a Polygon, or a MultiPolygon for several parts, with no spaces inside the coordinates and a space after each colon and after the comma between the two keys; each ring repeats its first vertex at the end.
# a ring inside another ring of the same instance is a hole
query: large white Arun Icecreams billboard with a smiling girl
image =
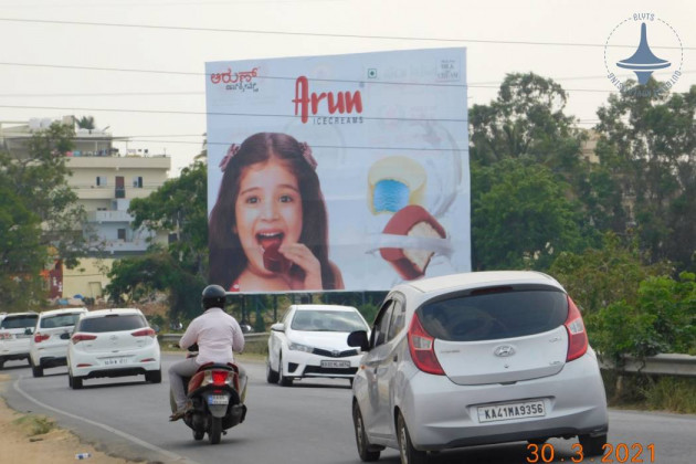
{"type": "Polygon", "coordinates": [[[211,62],[205,98],[211,283],[471,271],[465,49],[211,62]]]}

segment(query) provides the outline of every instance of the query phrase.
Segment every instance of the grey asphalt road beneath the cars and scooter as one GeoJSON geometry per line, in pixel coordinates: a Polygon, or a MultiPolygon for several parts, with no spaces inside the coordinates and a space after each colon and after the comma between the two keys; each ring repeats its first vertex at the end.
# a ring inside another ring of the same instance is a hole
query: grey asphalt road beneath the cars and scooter
{"type": "MultiPolygon", "coordinates": [[[[143,376],[94,379],[83,390],[67,387],[65,368],[46,369],[34,379],[24,362],[7,362],[14,379],[3,394],[22,412],[53,416],[105,451],[133,460],[162,463],[234,464],[356,464],[358,457],[350,416],[350,388],[345,380],[303,380],[292,388],[267,384],[264,366],[246,362],[250,387],[246,421],[228,431],[219,445],[193,441],[182,423],[168,422],[169,365],[180,356],[162,357],[161,384],[145,383],[143,376]]],[[[614,453],[603,462],[690,464],[694,461],[696,415],[610,411],[609,442],[614,453]],[[654,444],[654,461],[648,445],[654,444]],[[643,454],[637,455],[639,446],[643,454]],[[619,452],[619,454],[616,454],[619,452]],[[609,460],[611,458],[611,461],[609,460]],[[642,460],[642,461],[639,461],[642,460]]],[[[574,440],[551,440],[552,462],[572,462],[574,440]]],[[[549,462],[550,447],[538,462],[549,462]],[[546,460],[546,461],[545,461],[546,460]]],[[[46,456],[50,461],[50,456],[46,456]]],[[[434,455],[433,464],[534,461],[523,442],[476,446],[434,455]]],[[[379,462],[399,463],[393,450],[379,462]]],[[[602,462],[601,457],[583,462],[602,462]]]]}

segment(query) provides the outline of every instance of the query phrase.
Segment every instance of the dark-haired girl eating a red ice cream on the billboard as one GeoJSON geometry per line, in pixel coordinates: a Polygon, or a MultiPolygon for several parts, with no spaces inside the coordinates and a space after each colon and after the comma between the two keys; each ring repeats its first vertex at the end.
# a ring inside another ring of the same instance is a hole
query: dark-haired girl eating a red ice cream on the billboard
{"type": "Polygon", "coordinates": [[[210,282],[230,292],[342,289],[328,259],[328,215],[307,144],[259,133],[220,162],[209,222],[210,282]]]}

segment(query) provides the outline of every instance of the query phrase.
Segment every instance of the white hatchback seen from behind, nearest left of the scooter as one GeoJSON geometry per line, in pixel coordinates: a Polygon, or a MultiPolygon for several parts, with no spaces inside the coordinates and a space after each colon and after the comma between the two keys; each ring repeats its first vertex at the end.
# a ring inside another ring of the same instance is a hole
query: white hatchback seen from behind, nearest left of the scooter
{"type": "Polygon", "coordinates": [[[145,375],[162,380],[157,334],[135,308],[93,310],[83,315],[67,348],[67,379],[81,389],[85,379],[145,375]]]}

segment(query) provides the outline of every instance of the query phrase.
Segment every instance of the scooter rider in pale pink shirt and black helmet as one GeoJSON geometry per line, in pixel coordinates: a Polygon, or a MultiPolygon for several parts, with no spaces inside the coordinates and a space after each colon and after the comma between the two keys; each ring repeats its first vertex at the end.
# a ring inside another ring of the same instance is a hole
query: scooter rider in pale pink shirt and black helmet
{"type": "MultiPolygon", "coordinates": [[[[208,362],[228,363],[234,361],[233,351],[244,349],[244,334],[236,319],[224,312],[225,291],[220,285],[209,285],[203,289],[201,304],[203,314],[189,324],[179,340],[183,349],[198,344],[198,356],[175,362],[169,368],[169,384],[177,403],[177,411],[170,421],[183,418],[189,408],[182,378],[192,377],[198,368],[208,362]]],[[[242,401],[246,391],[246,371],[239,366],[242,401]]]]}

